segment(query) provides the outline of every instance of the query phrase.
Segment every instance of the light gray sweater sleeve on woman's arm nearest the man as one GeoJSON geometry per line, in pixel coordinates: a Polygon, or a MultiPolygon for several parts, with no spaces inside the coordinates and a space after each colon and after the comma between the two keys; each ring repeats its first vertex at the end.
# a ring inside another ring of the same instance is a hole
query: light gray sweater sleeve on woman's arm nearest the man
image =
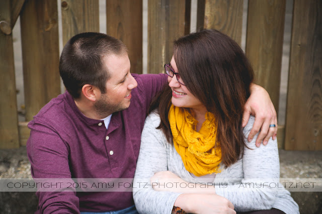
{"type": "Polygon", "coordinates": [[[141,137],[140,153],[137,161],[133,198],[139,213],[171,213],[180,193],[154,191],[150,177],[159,171],[168,170],[167,140],[160,129],[160,119],[151,113],[145,121],[141,137]]]}

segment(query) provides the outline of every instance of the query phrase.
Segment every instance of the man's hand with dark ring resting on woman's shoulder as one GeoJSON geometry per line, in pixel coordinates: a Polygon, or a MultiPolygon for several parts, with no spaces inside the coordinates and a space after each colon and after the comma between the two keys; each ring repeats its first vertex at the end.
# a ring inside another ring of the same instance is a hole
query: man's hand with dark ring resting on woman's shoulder
{"type": "Polygon", "coordinates": [[[257,147],[261,145],[263,140],[263,144],[266,145],[270,137],[273,137],[273,140],[276,139],[277,117],[274,105],[267,91],[255,84],[251,85],[251,96],[245,104],[243,127],[247,125],[250,115],[255,116],[255,123],[248,136],[249,142],[259,131],[261,132],[256,139],[257,147]],[[270,127],[270,124],[275,124],[276,127],[270,127]]]}

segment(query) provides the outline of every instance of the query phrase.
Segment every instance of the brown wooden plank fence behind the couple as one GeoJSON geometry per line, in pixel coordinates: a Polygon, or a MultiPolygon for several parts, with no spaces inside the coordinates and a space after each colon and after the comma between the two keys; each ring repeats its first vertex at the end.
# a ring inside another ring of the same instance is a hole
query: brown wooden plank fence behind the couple
{"type": "MultiPolygon", "coordinates": [[[[278,109],[286,0],[249,0],[246,54],[257,84],[278,109]]],[[[99,32],[98,0],[61,1],[63,44],[99,32]]],[[[172,41],[190,31],[191,0],[148,0],[148,73],[163,72],[172,41]]],[[[322,1],[294,0],[286,124],[279,147],[322,149],[322,1]]],[[[0,148],[26,145],[28,121],[60,93],[57,0],[0,1],[0,148]],[[26,122],[18,122],[12,29],[21,22],[26,122]]],[[[197,28],[218,29],[241,43],[243,1],[199,0],[197,28]]],[[[107,34],[129,48],[142,73],[142,0],[107,0],[107,34]]]]}

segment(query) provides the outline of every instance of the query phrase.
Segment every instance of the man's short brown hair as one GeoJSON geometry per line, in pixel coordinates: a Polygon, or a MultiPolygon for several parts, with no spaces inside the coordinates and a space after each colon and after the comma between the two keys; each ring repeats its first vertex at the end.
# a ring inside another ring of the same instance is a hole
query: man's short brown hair
{"type": "Polygon", "coordinates": [[[82,87],[90,84],[106,93],[109,73],[103,59],[126,53],[127,48],[120,40],[106,34],[88,32],[73,36],[66,43],[59,62],[59,73],[67,91],[78,99],[82,87]]]}

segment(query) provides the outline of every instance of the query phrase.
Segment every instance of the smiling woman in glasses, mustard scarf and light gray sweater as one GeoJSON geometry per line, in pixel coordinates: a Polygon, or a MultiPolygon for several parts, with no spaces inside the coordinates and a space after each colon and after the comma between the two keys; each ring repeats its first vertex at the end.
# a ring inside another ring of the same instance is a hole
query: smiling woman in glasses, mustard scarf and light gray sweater
{"type": "Polygon", "coordinates": [[[258,148],[256,137],[246,140],[254,117],[241,126],[254,74],[240,47],[216,30],[203,30],[175,41],[165,69],[169,87],[154,103],[157,110],[141,137],[133,186],[137,210],[298,213],[281,184],[268,185],[278,183],[277,141],[258,148]],[[146,178],[151,183],[143,186],[146,178]]]}

